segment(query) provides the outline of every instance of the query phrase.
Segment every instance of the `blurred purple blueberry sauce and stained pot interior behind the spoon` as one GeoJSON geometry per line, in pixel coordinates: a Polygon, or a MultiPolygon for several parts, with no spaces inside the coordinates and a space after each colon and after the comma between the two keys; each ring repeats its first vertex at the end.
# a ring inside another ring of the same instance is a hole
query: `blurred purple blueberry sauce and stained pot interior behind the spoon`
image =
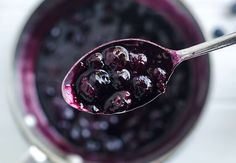
{"type": "Polygon", "coordinates": [[[165,94],[125,115],[94,116],[71,108],[61,82],[83,54],[111,40],[143,38],[173,49],[201,42],[185,11],[165,0],[45,1],[26,25],[16,58],[17,90],[24,112],[37,118],[37,138],[94,162],[149,162],[173,149],[202,109],[208,58],[183,63],[165,94]]]}

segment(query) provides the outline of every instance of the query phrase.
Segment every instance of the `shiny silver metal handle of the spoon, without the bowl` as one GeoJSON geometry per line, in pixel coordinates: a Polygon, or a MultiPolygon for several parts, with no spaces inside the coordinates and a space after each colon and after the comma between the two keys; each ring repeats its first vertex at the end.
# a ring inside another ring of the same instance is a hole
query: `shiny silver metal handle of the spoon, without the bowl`
{"type": "Polygon", "coordinates": [[[176,51],[177,55],[180,56],[180,60],[188,60],[206,54],[217,49],[221,49],[236,43],[236,32],[218,37],[211,41],[206,41],[204,43],[178,50],[176,51]]]}

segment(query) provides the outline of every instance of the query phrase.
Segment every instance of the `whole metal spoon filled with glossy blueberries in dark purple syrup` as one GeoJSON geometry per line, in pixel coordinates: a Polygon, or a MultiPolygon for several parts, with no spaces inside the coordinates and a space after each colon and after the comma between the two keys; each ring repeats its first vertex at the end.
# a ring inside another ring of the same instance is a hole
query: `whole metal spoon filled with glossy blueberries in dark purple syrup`
{"type": "Polygon", "coordinates": [[[181,62],[235,43],[236,33],[177,51],[143,39],[108,42],[72,66],[62,95],[70,106],[88,113],[131,111],[164,93],[181,62]]]}

